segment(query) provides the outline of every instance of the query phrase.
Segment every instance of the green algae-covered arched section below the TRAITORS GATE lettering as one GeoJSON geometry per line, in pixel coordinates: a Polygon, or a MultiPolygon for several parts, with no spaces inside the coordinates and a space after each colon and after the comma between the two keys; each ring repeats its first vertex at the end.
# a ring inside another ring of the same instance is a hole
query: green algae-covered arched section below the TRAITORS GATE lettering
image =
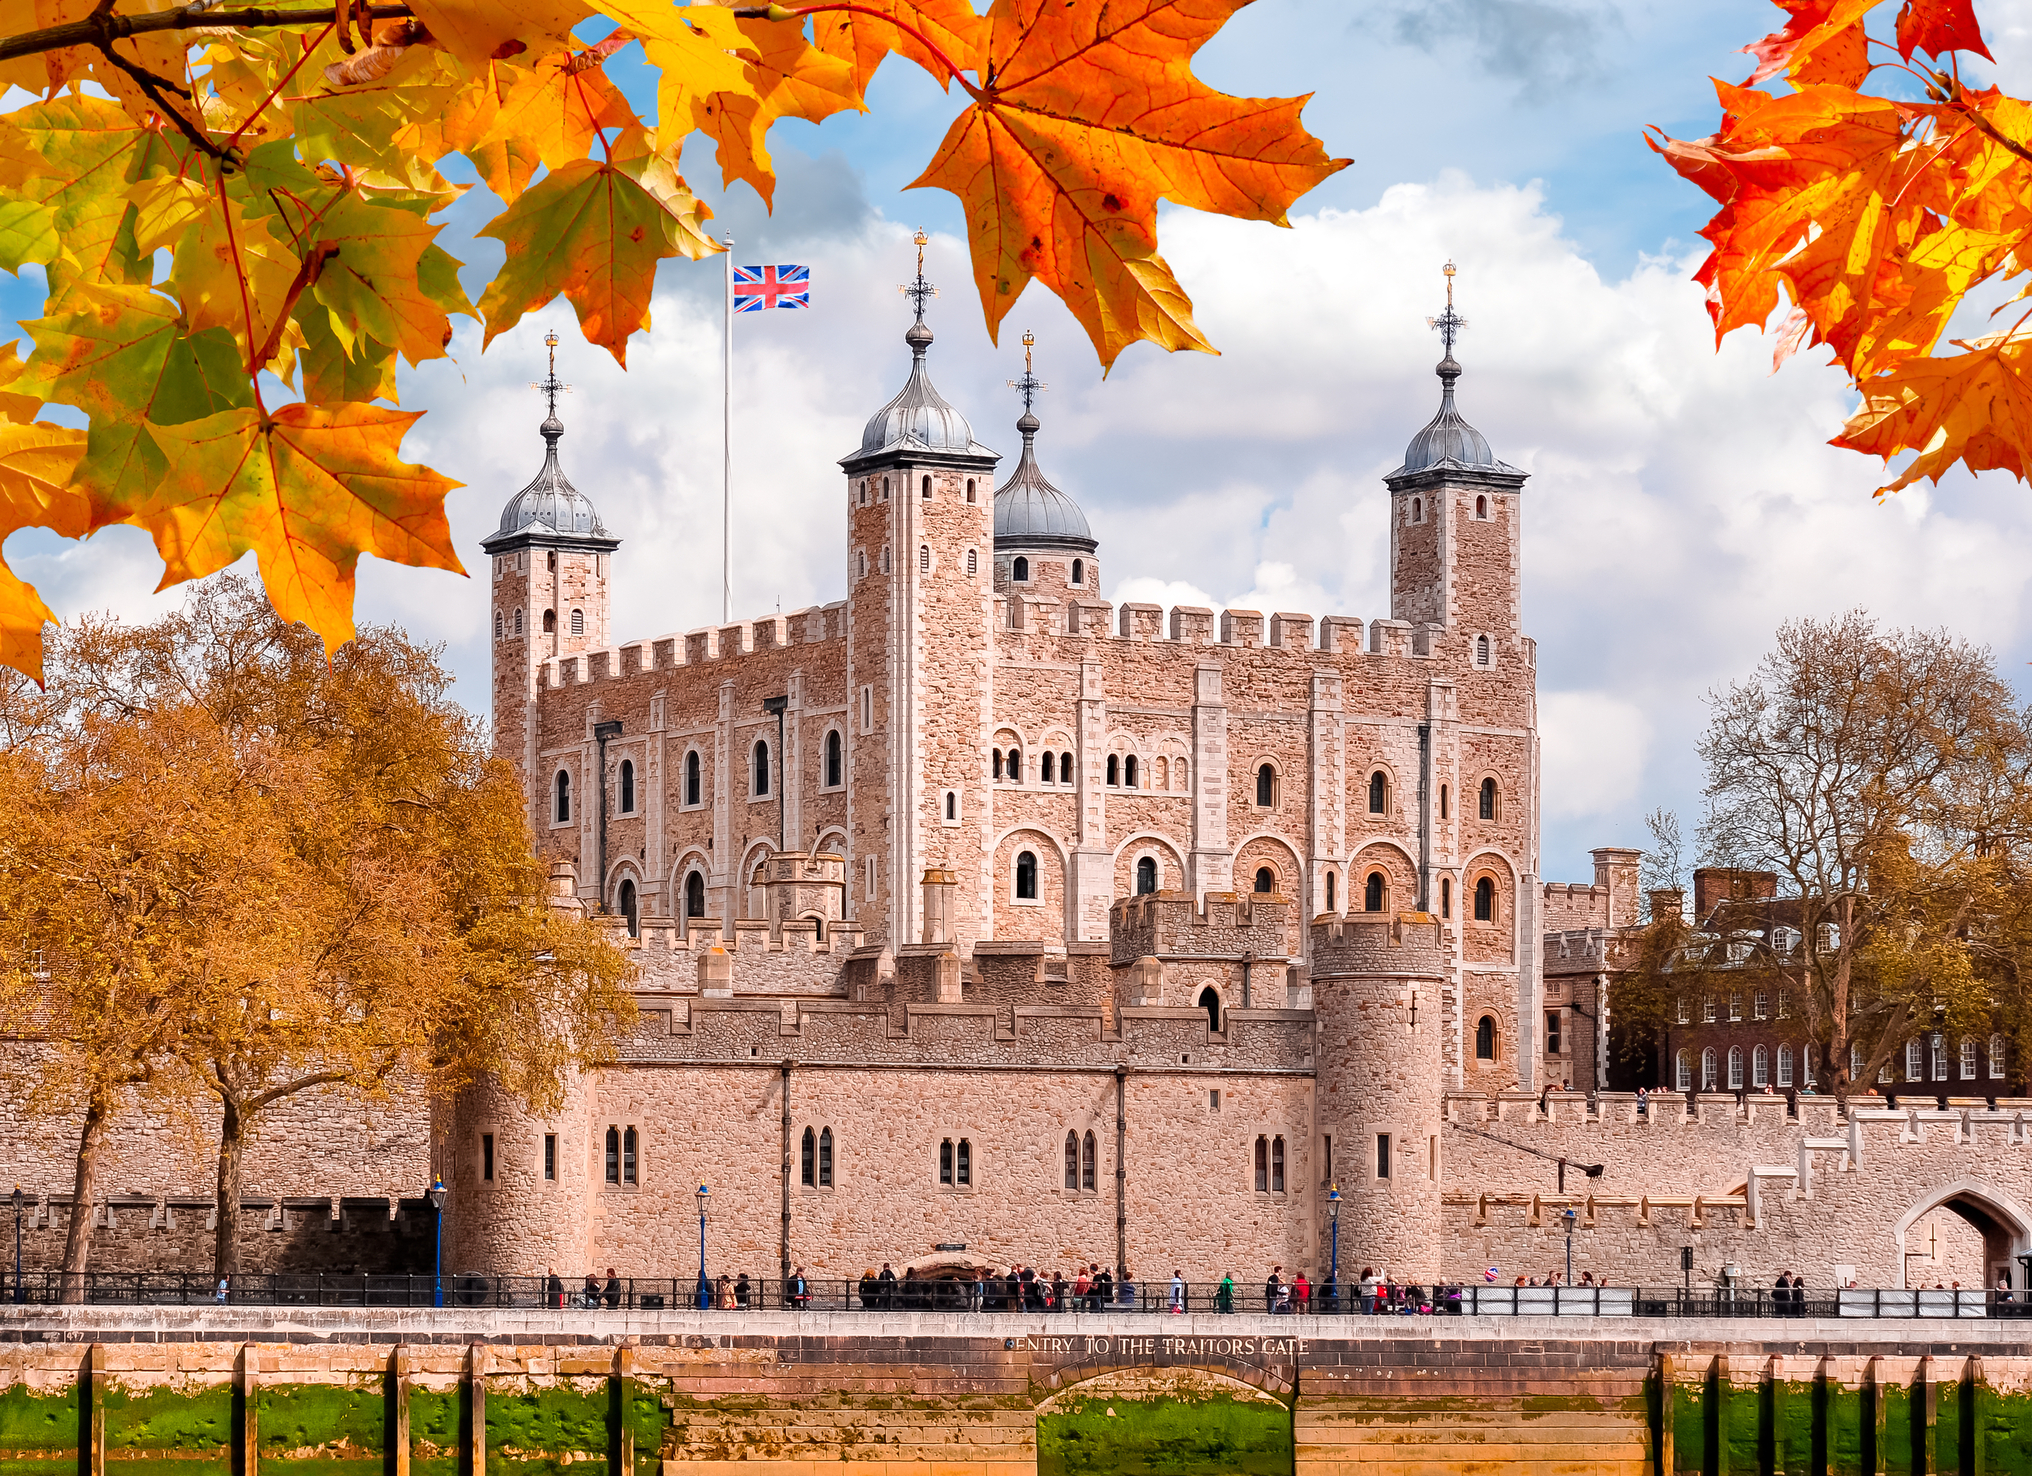
{"type": "Polygon", "coordinates": [[[1067,1399],[1036,1421],[1038,1476],[1290,1476],[1286,1405],[1067,1399]]]}

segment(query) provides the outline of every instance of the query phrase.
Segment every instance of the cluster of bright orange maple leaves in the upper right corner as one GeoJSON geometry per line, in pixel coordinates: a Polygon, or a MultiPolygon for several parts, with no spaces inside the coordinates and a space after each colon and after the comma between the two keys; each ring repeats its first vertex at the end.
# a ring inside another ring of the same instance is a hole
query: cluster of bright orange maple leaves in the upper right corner
{"type": "Polygon", "coordinates": [[[1717,342],[1788,307],[1772,366],[1825,346],[1861,394],[1833,443],[1886,464],[1918,451],[1880,496],[1957,464],[2024,480],[2026,289],[1991,331],[1943,337],[1971,295],[1993,301],[2026,270],[2032,106],[1963,79],[1965,59],[1989,59],[1973,0],[1776,4],[1784,26],[1743,47],[1750,77],[1715,81],[1719,128],[1650,140],[1719,203],[1697,272],[1717,342]]]}

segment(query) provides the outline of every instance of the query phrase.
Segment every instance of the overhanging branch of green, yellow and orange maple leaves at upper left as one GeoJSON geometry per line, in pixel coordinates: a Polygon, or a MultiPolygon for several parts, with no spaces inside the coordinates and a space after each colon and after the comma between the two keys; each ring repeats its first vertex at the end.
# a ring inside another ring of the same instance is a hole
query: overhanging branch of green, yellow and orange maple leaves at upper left
{"type": "MultiPolygon", "coordinates": [[[[1244,4],[0,0],[0,83],[33,96],[0,114],[0,266],[49,279],[33,356],[0,360],[0,539],[136,525],[165,583],[252,549],[276,612],[337,647],[362,553],[459,569],[455,484],[400,457],[396,362],[441,358],[455,315],[492,342],[563,295],[626,364],[656,264],[719,250],[685,140],[770,201],[770,126],[866,110],[892,53],[965,96],[916,183],[965,205],[990,331],[1034,279],[1103,364],[1138,340],[1211,350],[1158,199],[1282,224],[1347,163],[1303,98],[1193,77],[1244,4]],[[610,75],[630,47],[648,118],[610,75]],[[478,305],[439,244],[451,155],[502,201],[478,305]]],[[[47,618],[0,565],[0,661],[39,673],[47,618]]]]}

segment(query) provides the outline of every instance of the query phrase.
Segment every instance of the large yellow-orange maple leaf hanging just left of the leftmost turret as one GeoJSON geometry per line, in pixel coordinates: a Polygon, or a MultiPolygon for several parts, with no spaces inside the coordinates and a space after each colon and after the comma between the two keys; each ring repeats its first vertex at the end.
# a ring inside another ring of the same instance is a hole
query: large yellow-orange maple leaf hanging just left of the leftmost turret
{"type": "Polygon", "coordinates": [[[234,409],[150,425],[169,462],[163,486],[102,520],[154,537],[165,590],[254,549],[274,612],[311,626],[335,651],[354,638],[362,553],[465,571],[445,520],[445,494],[459,484],[398,455],[417,415],[284,405],[268,417],[234,409]]]}

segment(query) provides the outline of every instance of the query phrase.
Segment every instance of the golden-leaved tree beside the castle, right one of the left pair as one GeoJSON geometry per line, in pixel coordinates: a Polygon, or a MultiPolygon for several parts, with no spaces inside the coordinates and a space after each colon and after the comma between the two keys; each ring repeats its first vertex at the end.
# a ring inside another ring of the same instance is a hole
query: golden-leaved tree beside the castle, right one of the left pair
{"type": "MultiPolygon", "coordinates": [[[[148,807],[175,813],[187,789],[236,805],[191,862],[209,888],[187,931],[134,949],[165,1000],[148,1082],[217,1118],[217,1275],[238,1269],[244,1153],[278,1102],[396,1082],[449,1094],[494,1073],[555,1108],[567,1071],[604,1059],[626,1025],[632,968],[597,925],[547,909],[522,793],[451,703],[435,653],[368,630],[327,661],[317,634],[226,577],[148,626],[65,630],[51,689],[67,728],[161,750],[134,795],[138,846],[148,807]]],[[[47,807],[61,829],[65,799],[47,807]]],[[[8,882],[30,888],[37,870],[22,852],[8,882]]],[[[75,925],[41,884],[41,911],[6,909],[20,958],[51,958],[43,937],[75,925]]],[[[63,998],[69,976],[43,968],[63,998]]],[[[49,1033],[81,1069],[138,1080],[124,1035],[108,1049],[59,1019],[49,1033]]]]}

